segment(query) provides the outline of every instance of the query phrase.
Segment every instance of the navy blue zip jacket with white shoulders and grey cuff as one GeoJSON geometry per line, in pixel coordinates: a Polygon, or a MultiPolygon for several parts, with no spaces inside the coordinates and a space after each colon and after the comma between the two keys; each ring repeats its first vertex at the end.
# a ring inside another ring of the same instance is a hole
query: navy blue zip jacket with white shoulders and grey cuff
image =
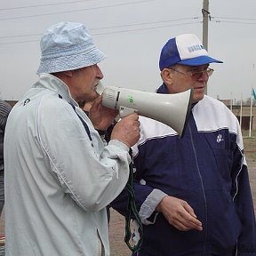
{"type": "MultiPolygon", "coordinates": [[[[163,84],[158,92],[166,93],[163,84]]],[[[184,136],[140,117],[133,147],[134,190],[143,222],[140,256],[256,256],[256,226],[242,134],[236,116],[204,96],[190,113],[184,136]],[[204,230],[180,231],[155,212],[163,195],[194,209],[204,230]]],[[[122,214],[127,193],[112,206],[122,214]]]]}

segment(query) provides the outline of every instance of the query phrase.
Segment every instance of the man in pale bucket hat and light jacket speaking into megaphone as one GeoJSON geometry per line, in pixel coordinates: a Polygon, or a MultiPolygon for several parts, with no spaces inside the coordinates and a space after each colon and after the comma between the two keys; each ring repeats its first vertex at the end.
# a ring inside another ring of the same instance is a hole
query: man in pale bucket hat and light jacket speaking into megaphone
{"type": "Polygon", "coordinates": [[[116,124],[108,146],[100,139],[116,112],[94,100],[105,55],[84,24],[47,29],[41,50],[39,80],[6,125],[6,256],[109,255],[106,206],[128,180],[138,115],[116,124]],[[89,117],[81,100],[94,100],[89,117]]]}

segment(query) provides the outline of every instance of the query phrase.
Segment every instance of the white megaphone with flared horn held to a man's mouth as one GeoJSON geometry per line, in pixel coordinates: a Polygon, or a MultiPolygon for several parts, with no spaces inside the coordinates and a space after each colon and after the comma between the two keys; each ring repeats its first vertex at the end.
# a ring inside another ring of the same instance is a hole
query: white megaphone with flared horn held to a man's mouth
{"type": "Polygon", "coordinates": [[[191,89],[174,94],[160,94],[109,86],[102,92],[102,105],[119,110],[121,118],[138,113],[169,125],[180,136],[187,124],[191,99],[191,89]]]}

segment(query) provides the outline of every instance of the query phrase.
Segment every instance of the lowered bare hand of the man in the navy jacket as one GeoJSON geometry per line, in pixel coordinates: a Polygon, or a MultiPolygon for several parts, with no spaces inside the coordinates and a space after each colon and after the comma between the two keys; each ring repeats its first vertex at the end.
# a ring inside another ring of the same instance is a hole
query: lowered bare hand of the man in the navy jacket
{"type": "Polygon", "coordinates": [[[201,221],[197,220],[194,210],[189,204],[179,198],[164,196],[156,207],[157,212],[162,212],[168,222],[180,231],[190,229],[203,230],[201,221]]]}

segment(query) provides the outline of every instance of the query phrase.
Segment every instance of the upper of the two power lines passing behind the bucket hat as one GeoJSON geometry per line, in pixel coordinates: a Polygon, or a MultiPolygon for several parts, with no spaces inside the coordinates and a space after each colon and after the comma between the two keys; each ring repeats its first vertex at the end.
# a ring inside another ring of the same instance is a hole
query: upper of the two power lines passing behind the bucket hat
{"type": "MultiPolygon", "coordinates": [[[[101,27],[101,28],[90,28],[90,30],[93,31],[93,30],[101,30],[101,29],[109,29],[109,28],[126,28],[126,27],[152,25],[152,24],[159,24],[159,23],[166,23],[166,22],[173,22],[173,21],[182,21],[182,20],[196,20],[196,19],[199,19],[199,17],[172,19],[172,20],[159,20],[159,21],[155,21],[155,22],[153,22],[153,21],[152,22],[140,22],[140,23],[127,24],[127,25],[108,26],[108,27],[101,27]]],[[[23,36],[42,36],[42,34],[0,36],[0,38],[12,38],[12,37],[23,37],[23,36]]]]}

